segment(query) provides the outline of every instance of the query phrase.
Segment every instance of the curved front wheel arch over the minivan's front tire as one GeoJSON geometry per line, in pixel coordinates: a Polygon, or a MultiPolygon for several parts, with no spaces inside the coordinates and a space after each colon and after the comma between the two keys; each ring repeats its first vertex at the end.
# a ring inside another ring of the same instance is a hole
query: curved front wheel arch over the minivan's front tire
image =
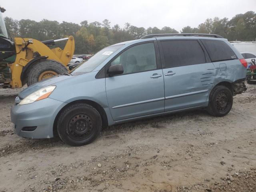
{"type": "Polygon", "coordinates": [[[53,135],[54,137],[58,136],[58,132],[57,132],[57,121],[58,121],[58,118],[60,116],[60,113],[65,110],[68,106],[72,105],[72,104],[76,104],[76,103],[86,103],[86,104],[89,104],[91,106],[93,106],[99,113],[100,113],[100,116],[101,116],[101,119],[102,119],[102,128],[105,128],[108,126],[108,117],[107,117],[107,114],[104,110],[104,108],[98,104],[97,102],[95,101],[92,101],[92,100],[88,100],[88,99],[80,99],[80,100],[75,100],[75,101],[72,101],[68,104],[66,104],[63,108],[60,109],[60,111],[58,112],[58,114],[56,115],[55,119],[54,119],[54,123],[53,123],[53,135]]]}

